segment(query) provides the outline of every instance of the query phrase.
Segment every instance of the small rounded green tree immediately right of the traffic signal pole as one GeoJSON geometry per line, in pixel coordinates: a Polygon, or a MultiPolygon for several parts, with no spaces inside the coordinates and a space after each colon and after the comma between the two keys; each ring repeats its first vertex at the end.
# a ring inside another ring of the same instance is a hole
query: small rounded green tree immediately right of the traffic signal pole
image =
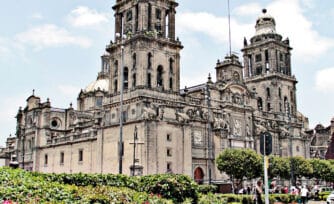
{"type": "Polygon", "coordinates": [[[279,176],[282,179],[290,178],[290,162],[286,157],[269,157],[269,178],[279,176]]]}

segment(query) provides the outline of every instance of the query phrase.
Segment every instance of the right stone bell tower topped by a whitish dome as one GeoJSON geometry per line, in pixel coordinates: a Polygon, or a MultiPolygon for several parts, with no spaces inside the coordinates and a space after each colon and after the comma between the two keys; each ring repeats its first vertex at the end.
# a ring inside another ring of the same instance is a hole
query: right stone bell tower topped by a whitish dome
{"type": "Polygon", "coordinates": [[[262,10],[257,19],[255,35],[248,44],[244,39],[245,82],[256,93],[261,112],[296,116],[296,84],[291,75],[289,39],[276,33],[275,19],[262,10]]]}

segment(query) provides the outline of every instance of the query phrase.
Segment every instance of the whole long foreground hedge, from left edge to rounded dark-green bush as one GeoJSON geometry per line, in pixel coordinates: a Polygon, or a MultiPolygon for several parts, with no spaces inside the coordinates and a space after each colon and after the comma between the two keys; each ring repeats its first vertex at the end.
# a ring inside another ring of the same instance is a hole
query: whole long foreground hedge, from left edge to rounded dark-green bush
{"type": "Polygon", "coordinates": [[[197,194],[198,185],[184,175],[42,174],[0,168],[0,200],[18,203],[190,204],[197,194]]]}

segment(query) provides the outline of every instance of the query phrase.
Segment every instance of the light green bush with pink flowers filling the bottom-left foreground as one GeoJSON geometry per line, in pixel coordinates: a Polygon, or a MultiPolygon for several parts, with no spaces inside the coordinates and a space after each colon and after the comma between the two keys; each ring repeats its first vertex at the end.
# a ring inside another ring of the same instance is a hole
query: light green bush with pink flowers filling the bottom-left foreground
{"type": "MultiPolygon", "coordinates": [[[[172,203],[172,201],[163,199],[159,195],[138,192],[126,187],[99,185],[106,182],[108,176],[87,175],[87,180],[94,181],[94,183],[84,181],[84,176],[86,175],[61,174],[57,177],[55,174],[39,174],[20,169],[0,168],[0,200],[10,200],[17,203],[71,204],[172,203]],[[73,185],[73,183],[78,184],[78,186],[73,185]]],[[[121,178],[124,178],[124,176],[121,176],[121,178]]],[[[132,180],[132,178],[129,178],[129,180],[132,180]]],[[[115,180],[108,182],[109,184],[110,182],[113,183],[113,185],[115,183],[116,185],[126,185],[122,179],[118,184],[115,180]]]]}

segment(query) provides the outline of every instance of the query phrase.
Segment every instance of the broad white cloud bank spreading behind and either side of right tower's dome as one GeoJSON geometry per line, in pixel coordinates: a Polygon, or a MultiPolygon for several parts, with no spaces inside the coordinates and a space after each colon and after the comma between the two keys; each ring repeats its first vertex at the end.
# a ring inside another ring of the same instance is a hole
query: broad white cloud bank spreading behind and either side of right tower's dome
{"type": "MultiPolygon", "coordinates": [[[[312,3],[311,0],[303,2],[312,3]]],[[[310,5],[308,5],[310,6],[310,5]]],[[[312,27],[312,22],[303,13],[307,6],[302,5],[298,0],[274,0],[267,6],[268,14],[276,20],[276,30],[283,38],[290,39],[293,47],[293,54],[299,59],[312,60],[334,47],[334,40],[321,36],[312,27]],[[304,6],[304,7],[303,7],[304,6]]],[[[253,23],[241,23],[245,15],[260,15],[261,6],[257,3],[241,5],[234,9],[236,15],[231,19],[232,47],[234,50],[242,48],[243,37],[248,39],[255,34],[254,16],[253,23]]],[[[227,17],[219,17],[209,13],[181,13],[178,16],[178,27],[181,27],[181,34],[184,32],[200,32],[208,35],[219,43],[228,41],[228,20],[227,17]]],[[[195,34],[194,34],[195,35],[195,34]]]]}

